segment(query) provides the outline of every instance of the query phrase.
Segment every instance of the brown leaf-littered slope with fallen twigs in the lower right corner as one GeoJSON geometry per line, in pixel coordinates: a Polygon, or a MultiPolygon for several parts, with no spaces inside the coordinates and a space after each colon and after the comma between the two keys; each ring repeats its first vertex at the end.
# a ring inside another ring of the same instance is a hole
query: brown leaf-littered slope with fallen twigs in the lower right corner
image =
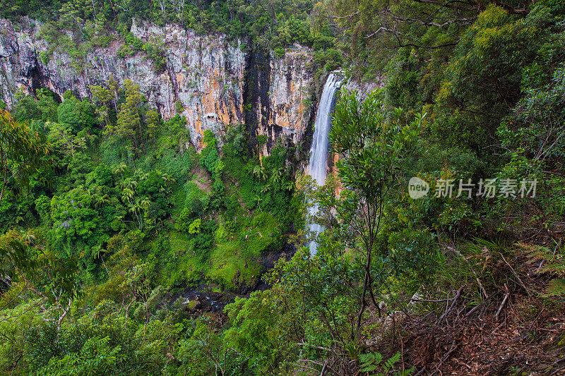
{"type": "Polygon", "coordinates": [[[532,249],[484,248],[465,257],[477,272],[458,288],[409,297],[383,317],[373,309],[387,335],[367,345],[384,358],[400,351],[411,375],[565,375],[564,300],[545,295],[552,277],[532,249]]]}

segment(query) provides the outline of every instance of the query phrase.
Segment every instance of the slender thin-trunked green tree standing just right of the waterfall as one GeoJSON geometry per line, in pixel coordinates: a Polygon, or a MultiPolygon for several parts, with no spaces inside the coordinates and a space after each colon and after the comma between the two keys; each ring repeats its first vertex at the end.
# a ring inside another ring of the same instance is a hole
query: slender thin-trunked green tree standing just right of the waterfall
{"type": "Polygon", "coordinates": [[[343,187],[350,194],[338,205],[343,221],[343,238],[351,248],[366,257],[357,329],[366,308],[367,293],[378,307],[371,274],[376,238],[383,222],[383,209],[393,188],[398,185],[405,158],[410,154],[423,116],[408,125],[400,121],[401,109],[386,116],[380,92],[371,92],[359,102],[355,92],[342,92],[333,114],[330,134],[333,152],[340,159],[335,165],[343,187]],[[353,235],[353,236],[352,236],[353,235]]]}

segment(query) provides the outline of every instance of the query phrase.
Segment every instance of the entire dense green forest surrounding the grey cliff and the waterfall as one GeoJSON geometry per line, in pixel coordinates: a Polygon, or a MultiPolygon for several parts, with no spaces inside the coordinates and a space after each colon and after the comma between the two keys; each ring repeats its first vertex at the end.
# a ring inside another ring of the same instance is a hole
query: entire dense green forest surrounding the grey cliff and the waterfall
{"type": "Polygon", "coordinates": [[[0,16],[78,71],[113,41],[164,71],[135,20],[248,54],[302,44],[319,84],[339,68],[381,86],[338,93],[321,187],[308,150],[263,154],[246,124],[192,145],[182,103],[162,119],[129,79],[0,103],[2,375],[563,372],[562,1],[0,0],[0,16]]]}

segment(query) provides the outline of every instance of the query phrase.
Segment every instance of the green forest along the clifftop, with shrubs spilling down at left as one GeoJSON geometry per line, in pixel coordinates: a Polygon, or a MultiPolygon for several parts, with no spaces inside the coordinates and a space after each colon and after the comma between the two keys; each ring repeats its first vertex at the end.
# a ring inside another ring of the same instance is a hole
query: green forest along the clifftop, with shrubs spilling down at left
{"type": "Polygon", "coordinates": [[[201,35],[222,33],[230,38],[251,37],[253,47],[275,50],[278,56],[294,43],[316,47],[323,40],[328,44],[333,40],[333,34],[328,28],[312,28],[311,9],[312,4],[304,0],[63,0],[47,1],[47,4],[0,1],[2,18],[30,16],[43,22],[40,36],[49,44],[48,51],[41,54],[44,63],[49,62],[54,51],[64,51],[71,56],[71,66],[77,73],[85,68],[86,56],[91,49],[109,47],[114,40],[123,42],[119,56],[133,56],[141,51],[145,59],[152,61],[155,72],[164,71],[167,57],[162,40],[142,41],[135,37],[130,32],[133,19],[159,26],[177,23],[201,35]],[[72,31],[70,36],[66,30],[72,31]]]}

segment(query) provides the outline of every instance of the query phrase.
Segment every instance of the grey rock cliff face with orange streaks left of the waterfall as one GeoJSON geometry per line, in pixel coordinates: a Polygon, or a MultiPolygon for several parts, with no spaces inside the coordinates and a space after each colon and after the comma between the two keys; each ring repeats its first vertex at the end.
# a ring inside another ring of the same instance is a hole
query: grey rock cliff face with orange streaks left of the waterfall
{"type": "Polygon", "coordinates": [[[164,119],[176,114],[180,101],[192,142],[201,147],[203,131],[221,135],[232,123],[248,123],[248,131],[268,136],[263,153],[275,141],[302,142],[309,127],[312,109],[304,98],[312,82],[307,62],[310,51],[289,49],[281,58],[258,52],[245,53],[242,40],[227,40],[224,35],[195,35],[178,25],[133,23],[131,32],[144,42],[156,38],[164,43],[167,66],[153,71],[152,62],[141,52],[122,58],[117,51],[122,42],[108,48],[91,49],[85,63],[77,68],[63,49],[55,49],[47,63],[49,48],[40,37],[40,24],[0,20],[0,95],[8,104],[14,93],[33,92],[38,87],[62,96],[73,90],[90,97],[90,85],[102,85],[112,75],[123,83],[131,79],[139,85],[150,106],[159,109],[164,119]]]}

